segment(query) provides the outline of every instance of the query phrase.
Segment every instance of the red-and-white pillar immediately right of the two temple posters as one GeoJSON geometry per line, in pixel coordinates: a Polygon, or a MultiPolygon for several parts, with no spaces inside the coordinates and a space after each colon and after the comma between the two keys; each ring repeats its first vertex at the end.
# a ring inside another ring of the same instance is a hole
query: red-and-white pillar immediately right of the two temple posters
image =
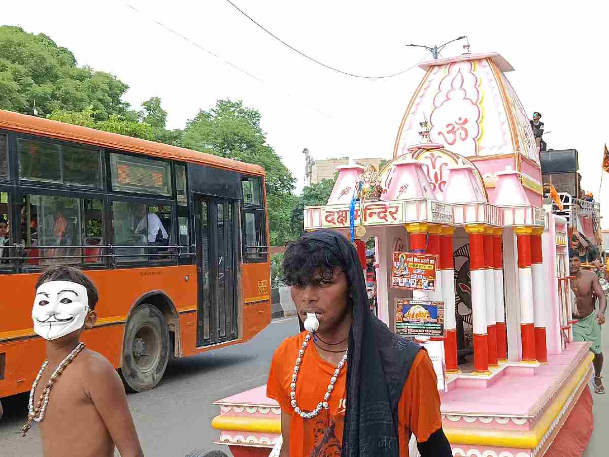
{"type": "Polygon", "coordinates": [[[452,235],[454,227],[444,225],[440,231],[440,261],[438,276],[442,277],[442,300],[444,300],[444,355],[447,373],[460,373],[457,366],[457,321],[455,317],[454,260],[452,258],[452,235]]]}

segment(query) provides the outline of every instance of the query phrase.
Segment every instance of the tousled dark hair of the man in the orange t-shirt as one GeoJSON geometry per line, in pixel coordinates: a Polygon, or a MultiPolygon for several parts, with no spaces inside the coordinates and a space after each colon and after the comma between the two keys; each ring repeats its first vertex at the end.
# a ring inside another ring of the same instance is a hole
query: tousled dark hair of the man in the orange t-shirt
{"type": "Polygon", "coordinates": [[[330,280],[336,267],[343,271],[347,269],[345,260],[337,252],[303,236],[287,246],[283,256],[283,280],[289,286],[316,284],[330,280]]]}

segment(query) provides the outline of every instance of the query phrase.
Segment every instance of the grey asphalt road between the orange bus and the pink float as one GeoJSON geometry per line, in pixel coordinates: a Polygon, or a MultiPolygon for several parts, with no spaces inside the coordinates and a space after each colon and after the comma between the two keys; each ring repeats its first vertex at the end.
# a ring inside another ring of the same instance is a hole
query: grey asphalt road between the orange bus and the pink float
{"type": "MultiPolygon", "coordinates": [[[[227,452],[225,446],[211,444],[219,437],[211,428],[211,420],[218,414],[212,403],[266,383],[273,351],[298,331],[295,319],[273,321],[247,344],[175,360],[155,389],[128,395],[146,457],[185,457],[199,447],[227,452]]],[[[38,427],[34,426],[27,438],[19,434],[27,416],[26,403],[26,394],[2,400],[2,457],[42,455],[38,427]]]]}

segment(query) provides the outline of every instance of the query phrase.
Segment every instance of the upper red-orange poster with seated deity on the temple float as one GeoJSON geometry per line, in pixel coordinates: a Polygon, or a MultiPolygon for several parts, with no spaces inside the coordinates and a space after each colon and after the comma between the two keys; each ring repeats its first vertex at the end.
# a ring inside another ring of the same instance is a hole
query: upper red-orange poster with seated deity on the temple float
{"type": "Polygon", "coordinates": [[[435,291],[438,256],[417,252],[393,252],[391,286],[411,291],[435,291]]]}

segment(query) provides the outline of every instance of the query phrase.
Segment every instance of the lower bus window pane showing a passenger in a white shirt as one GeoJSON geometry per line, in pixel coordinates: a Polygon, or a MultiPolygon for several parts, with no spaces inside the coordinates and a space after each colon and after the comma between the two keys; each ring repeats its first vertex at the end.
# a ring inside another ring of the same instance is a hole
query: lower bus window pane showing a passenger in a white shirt
{"type": "Polygon", "coordinates": [[[171,205],[112,203],[112,227],[118,262],[169,261],[171,255],[171,205]]]}

